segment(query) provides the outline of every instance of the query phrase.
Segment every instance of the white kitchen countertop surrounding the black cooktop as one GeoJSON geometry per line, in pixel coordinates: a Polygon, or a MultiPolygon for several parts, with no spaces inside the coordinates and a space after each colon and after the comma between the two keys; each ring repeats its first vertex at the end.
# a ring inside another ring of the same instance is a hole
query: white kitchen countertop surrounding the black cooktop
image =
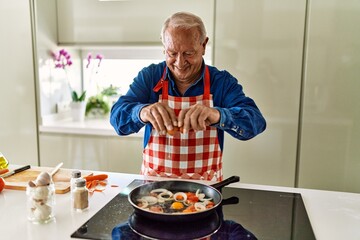
{"type": "MultiPolygon", "coordinates": [[[[73,239],[70,235],[133,179],[156,179],[111,172],[108,175],[109,184],[107,188],[104,192],[95,192],[89,198],[90,208],[86,212],[71,211],[70,193],[56,194],[56,219],[43,225],[33,224],[27,220],[25,191],[4,189],[0,193],[1,239],[73,239]],[[117,185],[118,187],[111,187],[110,185],[117,185]]],[[[300,193],[317,239],[360,239],[360,194],[243,183],[233,183],[230,186],[300,193]]]]}

